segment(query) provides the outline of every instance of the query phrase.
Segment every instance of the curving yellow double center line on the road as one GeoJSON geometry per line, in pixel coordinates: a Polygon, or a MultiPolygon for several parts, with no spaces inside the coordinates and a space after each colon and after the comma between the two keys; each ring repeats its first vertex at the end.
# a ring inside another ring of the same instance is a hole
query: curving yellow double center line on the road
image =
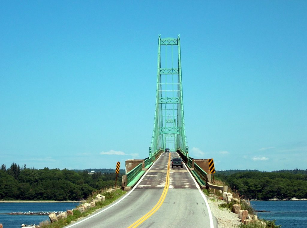
{"type": "Polygon", "coordinates": [[[147,218],[149,218],[150,216],[152,216],[162,205],[162,203],[164,202],[164,199],[166,197],[167,191],[169,190],[169,163],[171,160],[171,153],[169,153],[169,161],[167,163],[167,173],[166,173],[166,182],[165,182],[165,186],[162,192],[162,195],[159,199],[159,201],[157,202],[157,204],[147,213],[145,214],[142,218],[140,218],[138,221],[134,222],[132,225],[128,226],[128,228],[132,228],[132,227],[138,227],[139,225],[141,225],[147,218]]]}

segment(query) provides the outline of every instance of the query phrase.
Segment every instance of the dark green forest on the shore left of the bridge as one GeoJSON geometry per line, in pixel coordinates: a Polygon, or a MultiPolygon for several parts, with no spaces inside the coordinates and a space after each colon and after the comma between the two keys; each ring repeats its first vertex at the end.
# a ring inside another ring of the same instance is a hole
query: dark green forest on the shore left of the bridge
{"type": "MultiPolygon", "coordinates": [[[[120,170],[122,171],[122,170],[120,170]]],[[[123,173],[117,178],[121,185],[123,173]]],[[[115,170],[89,174],[88,170],[76,172],[60,169],[34,169],[13,163],[9,168],[1,166],[0,200],[80,200],[93,191],[114,187],[115,170]]]]}

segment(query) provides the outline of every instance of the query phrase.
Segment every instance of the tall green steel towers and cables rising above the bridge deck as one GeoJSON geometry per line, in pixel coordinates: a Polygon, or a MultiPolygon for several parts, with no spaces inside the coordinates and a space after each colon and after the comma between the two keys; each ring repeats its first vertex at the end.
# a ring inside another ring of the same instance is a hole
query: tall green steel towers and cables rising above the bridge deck
{"type": "Polygon", "coordinates": [[[149,157],[181,150],[188,158],[183,112],[180,37],[158,38],[156,109],[149,157]]]}

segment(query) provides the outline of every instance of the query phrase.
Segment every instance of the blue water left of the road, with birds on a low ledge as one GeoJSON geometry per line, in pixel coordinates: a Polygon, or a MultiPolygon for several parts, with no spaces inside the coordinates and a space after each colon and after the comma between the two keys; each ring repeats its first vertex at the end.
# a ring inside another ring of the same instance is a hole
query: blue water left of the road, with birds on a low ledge
{"type": "Polygon", "coordinates": [[[80,203],[0,203],[0,223],[3,228],[20,228],[21,224],[36,224],[48,220],[48,215],[10,215],[11,212],[41,212],[72,210],[80,203]]]}

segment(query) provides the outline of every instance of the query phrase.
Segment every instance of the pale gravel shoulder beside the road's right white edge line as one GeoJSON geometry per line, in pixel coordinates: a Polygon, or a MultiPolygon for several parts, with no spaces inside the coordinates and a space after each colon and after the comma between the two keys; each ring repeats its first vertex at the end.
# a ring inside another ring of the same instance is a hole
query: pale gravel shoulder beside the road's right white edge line
{"type": "Polygon", "coordinates": [[[224,201],[216,199],[215,197],[207,197],[211,212],[219,224],[219,228],[235,228],[241,222],[238,214],[232,213],[225,208],[219,208],[219,205],[224,201]]]}

